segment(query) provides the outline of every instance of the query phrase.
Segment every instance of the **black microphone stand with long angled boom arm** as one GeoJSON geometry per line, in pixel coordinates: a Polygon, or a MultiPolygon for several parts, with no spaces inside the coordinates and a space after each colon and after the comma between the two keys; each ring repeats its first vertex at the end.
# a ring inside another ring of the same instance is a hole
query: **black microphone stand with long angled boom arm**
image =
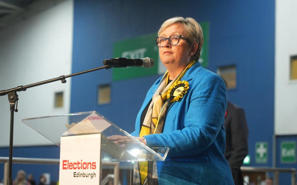
{"type": "Polygon", "coordinates": [[[61,80],[61,82],[64,84],[66,83],[66,78],[72,77],[72,76],[76,76],[76,75],[81,75],[87,72],[92,72],[92,71],[97,71],[99,69],[110,69],[112,68],[111,66],[102,66],[99,68],[94,68],[94,69],[89,69],[86,71],[82,71],[82,72],[77,72],[74,74],[70,74],[70,75],[62,75],[59,76],[57,78],[52,78],[49,80],[44,80],[41,82],[37,82],[34,84],[29,84],[29,85],[20,85],[18,87],[15,88],[11,88],[11,89],[7,89],[7,90],[2,90],[0,91],[0,96],[4,96],[4,95],[8,95],[8,101],[9,101],[9,105],[10,105],[10,140],[9,140],[9,161],[8,161],[8,181],[7,181],[7,185],[12,185],[12,146],[13,146],[13,121],[14,121],[14,112],[18,112],[18,100],[19,100],[19,96],[16,94],[17,91],[26,91],[27,88],[31,88],[31,87],[35,87],[35,86],[39,86],[39,85],[43,85],[43,84],[48,84],[51,82],[55,82],[58,80],[61,80]],[[15,109],[15,103],[16,103],[16,109],[15,109]]]}

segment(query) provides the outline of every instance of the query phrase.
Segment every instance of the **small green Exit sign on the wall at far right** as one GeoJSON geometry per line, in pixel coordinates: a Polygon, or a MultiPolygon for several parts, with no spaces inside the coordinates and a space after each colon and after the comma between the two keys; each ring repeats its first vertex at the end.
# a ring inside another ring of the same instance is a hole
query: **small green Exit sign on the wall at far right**
{"type": "Polygon", "coordinates": [[[296,142],[283,141],[281,142],[281,163],[296,162],[296,142]]]}

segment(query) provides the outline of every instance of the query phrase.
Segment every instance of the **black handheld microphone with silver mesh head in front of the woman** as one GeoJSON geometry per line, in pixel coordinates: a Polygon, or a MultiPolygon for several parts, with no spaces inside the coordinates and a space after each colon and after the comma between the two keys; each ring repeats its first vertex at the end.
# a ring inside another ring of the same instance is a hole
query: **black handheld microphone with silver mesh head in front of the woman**
{"type": "Polygon", "coordinates": [[[126,68],[127,66],[151,68],[154,66],[154,60],[149,57],[145,57],[143,59],[107,59],[103,60],[103,65],[114,68],[126,68]]]}

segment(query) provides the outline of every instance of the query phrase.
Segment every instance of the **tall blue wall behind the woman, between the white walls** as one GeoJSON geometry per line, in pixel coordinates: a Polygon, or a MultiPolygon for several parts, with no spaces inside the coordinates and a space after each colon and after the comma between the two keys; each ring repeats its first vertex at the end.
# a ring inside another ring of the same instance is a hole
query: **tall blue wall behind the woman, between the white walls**
{"type": "MultiPolygon", "coordinates": [[[[272,167],[274,1],[75,1],[72,72],[113,56],[113,43],[156,32],[173,16],[209,21],[209,70],[235,64],[228,99],[246,111],[251,166],[272,167]],[[176,6],[172,6],[175,5],[176,6]],[[255,163],[255,142],[269,144],[268,163],[255,163]]],[[[149,42],[149,41],[148,41],[149,42]]],[[[155,59],[156,60],[156,59],[155,59]]],[[[112,82],[112,70],[72,78],[71,112],[96,110],[132,132],[146,91],[158,76],[112,82]],[[111,103],[97,105],[97,86],[111,84],[111,103]],[[125,97],[125,98],[123,98],[125,97]]]]}

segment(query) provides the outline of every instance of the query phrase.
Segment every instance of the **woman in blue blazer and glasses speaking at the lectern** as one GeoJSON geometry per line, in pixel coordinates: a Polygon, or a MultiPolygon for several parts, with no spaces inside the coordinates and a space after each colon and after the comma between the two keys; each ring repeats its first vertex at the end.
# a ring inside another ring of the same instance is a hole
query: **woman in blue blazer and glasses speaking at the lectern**
{"type": "Polygon", "coordinates": [[[226,86],[198,61],[200,25],[168,19],[156,44],[167,72],[149,89],[131,135],[170,150],[165,161],[135,162],[134,184],[234,184],[224,157],[226,86]]]}

